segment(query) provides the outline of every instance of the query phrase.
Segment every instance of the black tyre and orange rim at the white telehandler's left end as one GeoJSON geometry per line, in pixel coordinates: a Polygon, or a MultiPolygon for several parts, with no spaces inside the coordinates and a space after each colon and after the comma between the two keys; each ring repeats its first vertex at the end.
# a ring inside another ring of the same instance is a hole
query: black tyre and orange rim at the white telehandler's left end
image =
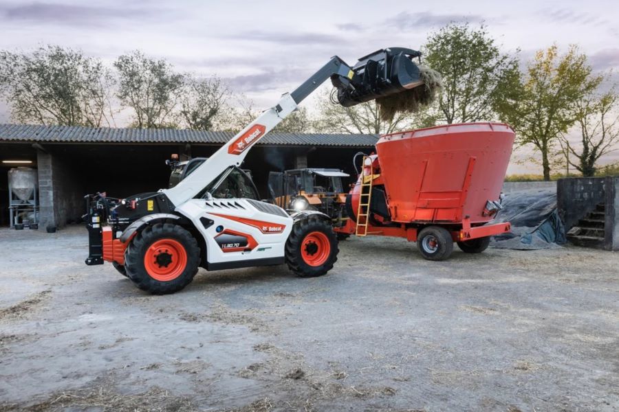
{"type": "Polygon", "coordinates": [[[197,273],[200,250],[191,233],[179,225],[158,223],[140,231],[124,252],[127,277],[155,295],[175,293],[197,273]]]}

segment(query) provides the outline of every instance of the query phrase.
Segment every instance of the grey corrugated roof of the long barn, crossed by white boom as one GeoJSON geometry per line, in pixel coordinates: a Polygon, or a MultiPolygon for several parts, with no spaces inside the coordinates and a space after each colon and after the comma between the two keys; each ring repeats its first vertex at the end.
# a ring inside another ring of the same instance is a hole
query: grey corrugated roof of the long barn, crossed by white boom
{"type": "MultiPolygon", "coordinates": [[[[224,144],[231,132],[178,129],[94,128],[82,126],[39,126],[0,124],[0,141],[40,143],[138,143],[138,144],[224,144]]],[[[276,146],[370,147],[378,135],[331,135],[326,133],[269,133],[257,143],[276,146]]]]}

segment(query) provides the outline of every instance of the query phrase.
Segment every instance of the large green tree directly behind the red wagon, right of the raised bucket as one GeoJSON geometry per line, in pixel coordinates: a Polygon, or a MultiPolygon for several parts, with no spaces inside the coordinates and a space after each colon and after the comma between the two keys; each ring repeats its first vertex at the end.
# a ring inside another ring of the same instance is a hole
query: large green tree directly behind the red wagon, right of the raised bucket
{"type": "Polygon", "coordinates": [[[423,52],[425,62],[443,77],[437,122],[495,118],[495,104],[512,95],[519,78],[517,56],[502,54],[484,25],[450,23],[429,36],[423,52]]]}

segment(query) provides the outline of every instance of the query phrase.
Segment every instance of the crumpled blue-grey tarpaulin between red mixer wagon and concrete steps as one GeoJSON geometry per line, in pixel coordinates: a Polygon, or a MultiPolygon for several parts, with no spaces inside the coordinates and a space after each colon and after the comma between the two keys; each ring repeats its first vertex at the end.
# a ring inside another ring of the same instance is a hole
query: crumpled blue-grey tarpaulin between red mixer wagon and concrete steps
{"type": "Polygon", "coordinates": [[[556,211],[556,190],[510,192],[495,222],[510,222],[512,231],[495,236],[490,243],[499,249],[534,250],[565,243],[565,227],[556,211]]]}

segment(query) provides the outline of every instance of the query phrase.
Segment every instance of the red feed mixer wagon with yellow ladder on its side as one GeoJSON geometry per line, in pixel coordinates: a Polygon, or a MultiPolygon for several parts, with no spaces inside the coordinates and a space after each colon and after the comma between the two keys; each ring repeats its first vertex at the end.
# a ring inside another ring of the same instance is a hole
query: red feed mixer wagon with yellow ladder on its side
{"type": "Polygon", "coordinates": [[[417,242],[428,260],[445,260],[453,242],[480,253],[501,209],[501,187],[514,131],[506,124],[452,124],[384,135],[363,158],[346,199],[349,220],[338,233],[396,236],[417,242]]]}

